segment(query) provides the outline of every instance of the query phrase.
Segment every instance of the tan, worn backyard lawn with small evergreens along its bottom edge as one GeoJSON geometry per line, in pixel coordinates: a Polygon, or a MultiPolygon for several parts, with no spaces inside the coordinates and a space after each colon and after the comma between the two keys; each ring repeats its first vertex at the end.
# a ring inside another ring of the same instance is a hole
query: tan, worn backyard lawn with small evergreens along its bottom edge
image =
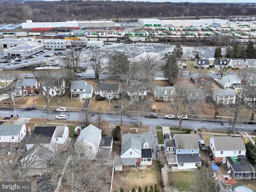
{"type": "MultiPolygon", "coordinates": [[[[132,188],[138,190],[139,186],[144,191],[145,186],[147,186],[148,191],[150,190],[150,186],[156,184],[158,186],[162,186],[162,178],[161,171],[158,161],[153,161],[152,166],[148,166],[147,170],[127,170],[120,172],[121,175],[117,178],[117,172],[115,172],[114,180],[117,180],[118,184],[122,181],[127,180],[127,185],[122,186],[124,191],[131,191],[132,188]]],[[[120,191],[120,186],[113,186],[114,190],[120,191]]]]}

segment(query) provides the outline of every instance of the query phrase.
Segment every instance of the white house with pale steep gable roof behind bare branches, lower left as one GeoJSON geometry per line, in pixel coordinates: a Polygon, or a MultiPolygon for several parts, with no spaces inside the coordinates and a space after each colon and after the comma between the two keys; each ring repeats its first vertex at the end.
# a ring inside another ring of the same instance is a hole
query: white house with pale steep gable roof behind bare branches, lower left
{"type": "Polygon", "coordinates": [[[95,159],[100,146],[101,132],[102,130],[92,124],[82,129],[75,144],[77,153],[95,159]]]}

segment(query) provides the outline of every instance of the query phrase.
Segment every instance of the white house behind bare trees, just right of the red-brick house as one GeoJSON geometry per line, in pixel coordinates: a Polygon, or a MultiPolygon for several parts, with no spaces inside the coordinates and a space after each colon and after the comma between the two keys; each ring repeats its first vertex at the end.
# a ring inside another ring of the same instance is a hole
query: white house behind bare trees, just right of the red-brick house
{"type": "MultiPolygon", "coordinates": [[[[65,93],[65,81],[59,82],[59,80],[53,80],[52,86],[50,86],[49,95],[56,96],[56,95],[63,95],[65,93]]],[[[44,81],[41,87],[46,91],[46,82],[44,81]]],[[[45,92],[43,92],[45,96],[45,92]]]]}

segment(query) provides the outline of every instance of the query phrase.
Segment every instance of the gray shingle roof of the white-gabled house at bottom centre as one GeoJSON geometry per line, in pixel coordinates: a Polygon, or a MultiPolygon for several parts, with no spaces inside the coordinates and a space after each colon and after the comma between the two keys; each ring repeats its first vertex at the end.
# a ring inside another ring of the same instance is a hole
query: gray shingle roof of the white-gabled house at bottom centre
{"type": "Polygon", "coordinates": [[[121,154],[122,156],[128,149],[134,148],[137,150],[141,150],[143,148],[143,144],[148,143],[149,147],[152,148],[152,137],[150,134],[123,134],[122,135],[122,148],[121,154]]]}

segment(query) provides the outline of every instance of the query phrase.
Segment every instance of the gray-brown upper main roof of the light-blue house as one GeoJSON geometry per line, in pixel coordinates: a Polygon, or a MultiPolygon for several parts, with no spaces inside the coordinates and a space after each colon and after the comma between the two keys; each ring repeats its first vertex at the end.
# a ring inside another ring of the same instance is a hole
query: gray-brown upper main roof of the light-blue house
{"type": "Polygon", "coordinates": [[[176,149],[199,149],[197,134],[175,134],[176,149]]]}

